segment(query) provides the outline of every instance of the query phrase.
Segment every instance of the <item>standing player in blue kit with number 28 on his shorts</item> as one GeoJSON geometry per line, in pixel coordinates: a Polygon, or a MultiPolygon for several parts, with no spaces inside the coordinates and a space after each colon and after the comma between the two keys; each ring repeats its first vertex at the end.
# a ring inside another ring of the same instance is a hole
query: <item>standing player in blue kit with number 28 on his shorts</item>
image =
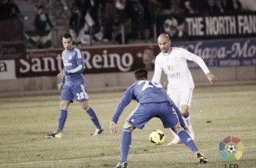
{"type": "Polygon", "coordinates": [[[63,46],[65,50],[62,52],[62,60],[64,69],[57,75],[62,79],[58,88],[61,91],[61,112],[59,116],[59,126],[53,134],[46,135],[47,138],[61,138],[63,136],[63,128],[67,119],[67,108],[70,103],[73,103],[73,98],[79,101],[82,108],[89,114],[92,122],[96,126],[94,136],[102,134],[103,129],[100,126],[100,122],[88,103],[88,93],[86,91],[86,83],[82,72],[84,71],[84,56],[82,52],[72,46],[72,36],[70,34],[63,35],[63,46]]]}

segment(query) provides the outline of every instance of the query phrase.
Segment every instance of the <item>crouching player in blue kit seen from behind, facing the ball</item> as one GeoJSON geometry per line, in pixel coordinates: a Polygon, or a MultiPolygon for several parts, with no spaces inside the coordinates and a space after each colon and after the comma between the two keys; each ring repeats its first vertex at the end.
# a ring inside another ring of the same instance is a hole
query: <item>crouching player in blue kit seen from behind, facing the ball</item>
{"type": "Polygon", "coordinates": [[[181,142],[195,153],[199,163],[207,163],[207,158],[200,153],[195,142],[189,136],[189,128],[185,126],[179,108],[174,105],[162,88],[162,85],[148,81],[148,71],[145,69],[138,69],[134,74],[135,83],[123,94],[110,122],[110,132],[111,134],[116,134],[117,121],[124,108],[132,99],[138,102],[137,107],[128,116],[123,126],[120,149],[121,161],[117,164],[116,168],[128,167],[127,156],[131,146],[131,132],[135,128],[142,129],[154,117],[160,118],[164,128],[172,128],[176,132],[179,138],[181,138],[181,142]]]}

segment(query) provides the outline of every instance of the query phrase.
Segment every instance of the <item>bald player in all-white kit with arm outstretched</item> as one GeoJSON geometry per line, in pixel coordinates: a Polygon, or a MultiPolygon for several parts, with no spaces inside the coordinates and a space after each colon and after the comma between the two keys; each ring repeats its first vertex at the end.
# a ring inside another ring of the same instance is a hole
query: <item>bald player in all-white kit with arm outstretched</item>
{"type": "MultiPolygon", "coordinates": [[[[162,52],[156,56],[154,76],[152,81],[159,83],[162,71],[167,75],[168,86],[167,93],[172,101],[175,103],[181,114],[185,124],[189,127],[191,138],[195,138],[189,108],[191,106],[191,99],[193,89],[195,87],[192,75],[187,66],[187,60],[196,62],[205,73],[210,83],[216,83],[217,79],[210,73],[209,69],[203,62],[203,59],[184,48],[176,48],[170,46],[171,41],[167,34],[160,34],[158,37],[158,46],[162,52]]],[[[171,130],[172,132],[172,130],[171,130]]],[[[172,132],[174,138],[168,144],[181,143],[179,136],[172,132]]]]}

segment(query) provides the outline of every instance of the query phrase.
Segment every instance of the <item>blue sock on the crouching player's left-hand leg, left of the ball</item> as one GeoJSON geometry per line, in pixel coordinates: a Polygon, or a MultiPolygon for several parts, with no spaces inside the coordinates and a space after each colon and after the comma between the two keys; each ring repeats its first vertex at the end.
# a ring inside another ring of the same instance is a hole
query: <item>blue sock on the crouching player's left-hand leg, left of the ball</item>
{"type": "Polygon", "coordinates": [[[127,162],[127,157],[128,157],[130,147],[131,147],[131,130],[124,128],[122,138],[121,138],[120,163],[127,162]]]}

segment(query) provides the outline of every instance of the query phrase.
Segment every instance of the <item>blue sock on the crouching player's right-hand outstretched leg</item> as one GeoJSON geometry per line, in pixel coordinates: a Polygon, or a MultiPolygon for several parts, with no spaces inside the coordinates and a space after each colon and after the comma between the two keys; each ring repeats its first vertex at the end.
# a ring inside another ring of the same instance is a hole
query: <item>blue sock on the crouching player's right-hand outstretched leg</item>
{"type": "Polygon", "coordinates": [[[191,151],[193,151],[193,153],[198,151],[197,146],[195,145],[195,142],[189,136],[189,133],[187,133],[187,131],[185,131],[183,128],[180,128],[177,131],[177,135],[180,137],[181,142],[183,142],[183,144],[186,144],[191,149],[191,151]]]}

